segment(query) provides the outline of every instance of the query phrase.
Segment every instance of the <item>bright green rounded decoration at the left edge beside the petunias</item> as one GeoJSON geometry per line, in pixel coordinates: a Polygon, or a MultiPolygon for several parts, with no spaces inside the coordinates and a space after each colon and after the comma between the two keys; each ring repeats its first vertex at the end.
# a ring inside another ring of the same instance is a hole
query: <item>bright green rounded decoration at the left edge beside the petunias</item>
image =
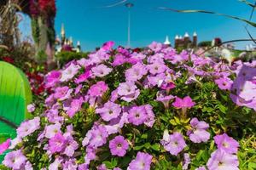
{"type": "Polygon", "coordinates": [[[31,118],[26,110],[31,102],[32,91],[25,74],[14,65],[0,61],[0,144],[14,139],[20,123],[31,118]]]}

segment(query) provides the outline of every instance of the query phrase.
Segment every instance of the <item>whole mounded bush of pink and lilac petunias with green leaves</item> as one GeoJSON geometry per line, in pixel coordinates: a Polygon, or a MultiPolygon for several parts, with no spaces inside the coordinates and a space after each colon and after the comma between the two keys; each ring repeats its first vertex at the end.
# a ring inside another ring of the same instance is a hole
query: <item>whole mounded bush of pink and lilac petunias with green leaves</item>
{"type": "Polygon", "coordinates": [[[44,112],[20,125],[3,165],[253,169],[255,66],[177,54],[157,42],[142,51],[107,42],[49,72],[44,112]]]}

